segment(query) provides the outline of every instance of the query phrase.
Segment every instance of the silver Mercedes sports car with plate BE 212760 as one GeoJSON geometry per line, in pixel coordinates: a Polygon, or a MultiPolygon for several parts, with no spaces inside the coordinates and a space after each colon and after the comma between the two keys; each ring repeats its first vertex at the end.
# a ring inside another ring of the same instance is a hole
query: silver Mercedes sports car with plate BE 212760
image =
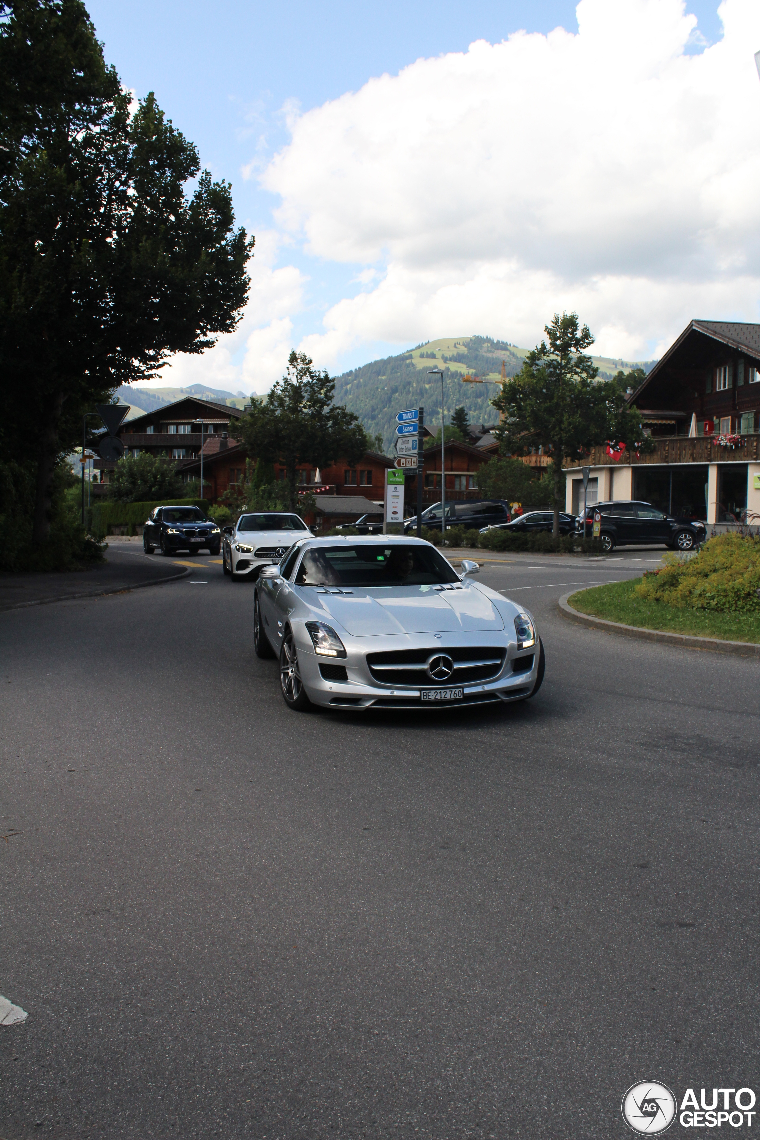
{"type": "Polygon", "coordinates": [[[259,657],[279,658],[292,709],[425,709],[533,697],[544,646],[532,616],[459,576],[418,538],[303,538],[264,567],[259,657]]]}

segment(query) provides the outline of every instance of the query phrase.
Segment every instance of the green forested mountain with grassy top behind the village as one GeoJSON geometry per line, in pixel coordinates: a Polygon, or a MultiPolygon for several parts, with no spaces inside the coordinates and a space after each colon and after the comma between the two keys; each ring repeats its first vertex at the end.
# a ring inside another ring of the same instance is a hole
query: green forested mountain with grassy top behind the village
{"type": "MultiPolygon", "coordinates": [[[[441,368],[446,423],[450,423],[453,409],[464,405],[471,423],[495,424],[498,413],[490,401],[496,388],[492,384],[466,383],[463,377],[469,374],[498,382],[502,364],[505,374],[514,376],[522,368],[528,351],[490,336],[427,341],[410,352],[373,360],[336,376],[335,402],[345,404],[350,412],[354,412],[370,434],[382,432],[385,448],[390,451],[395,435],[397,412],[422,406],[425,408],[425,423],[433,431],[440,426],[441,377],[427,376],[426,373],[430,368],[441,368]]],[[[643,367],[648,372],[654,363],[594,357],[602,380],[611,380],[620,369],[630,372],[631,368],[643,367]]]]}

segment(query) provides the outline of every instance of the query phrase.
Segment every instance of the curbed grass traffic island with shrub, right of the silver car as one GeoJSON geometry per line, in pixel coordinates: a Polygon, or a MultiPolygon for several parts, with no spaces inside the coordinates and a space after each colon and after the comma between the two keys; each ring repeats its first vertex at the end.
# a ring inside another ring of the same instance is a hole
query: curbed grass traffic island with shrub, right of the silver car
{"type": "Polygon", "coordinates": [[[643,578],[579,591],[580,613],[639,629],[760,643],[760,539],[711,538],[690,559],[670,555],[643,578]]]}

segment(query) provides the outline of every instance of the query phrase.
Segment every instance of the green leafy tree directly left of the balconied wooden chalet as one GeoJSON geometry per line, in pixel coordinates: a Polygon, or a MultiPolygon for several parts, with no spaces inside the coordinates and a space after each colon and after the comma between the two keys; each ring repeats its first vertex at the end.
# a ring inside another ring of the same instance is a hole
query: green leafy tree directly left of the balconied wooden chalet
{"type": "Polygon", "coordinates": [[[578,314],[555,314],[548,337],[528,353],[520,372],[501,385],[492,401],[504,414],[496,434],[501,450],[525,455],[542,448],[551,456],[554,535],[559,535],[564,505],[565,459],[580,459],[595,445],[615,439],[644,442],[640,415],[629,409],[614,381],[595,383],[598,368],[586,349],[594,343],[578,314]]]}

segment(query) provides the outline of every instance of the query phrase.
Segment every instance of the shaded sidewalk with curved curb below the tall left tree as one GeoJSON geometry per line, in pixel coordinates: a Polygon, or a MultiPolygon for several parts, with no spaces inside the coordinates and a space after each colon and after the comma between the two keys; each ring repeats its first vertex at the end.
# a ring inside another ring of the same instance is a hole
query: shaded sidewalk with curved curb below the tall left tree
{"type": "Polygon", "coordinates": [[[155,561],[122,554],[111,545],[106,562],[91,570],[72,570],[66,573],[3,573],[0,575],[0,610],[18,610],[47,602],[64,602],[74,597],[96,597],[119,594],[124,589],[157,586],[164,581],[183,578],[189,570],[155,561]]]}

